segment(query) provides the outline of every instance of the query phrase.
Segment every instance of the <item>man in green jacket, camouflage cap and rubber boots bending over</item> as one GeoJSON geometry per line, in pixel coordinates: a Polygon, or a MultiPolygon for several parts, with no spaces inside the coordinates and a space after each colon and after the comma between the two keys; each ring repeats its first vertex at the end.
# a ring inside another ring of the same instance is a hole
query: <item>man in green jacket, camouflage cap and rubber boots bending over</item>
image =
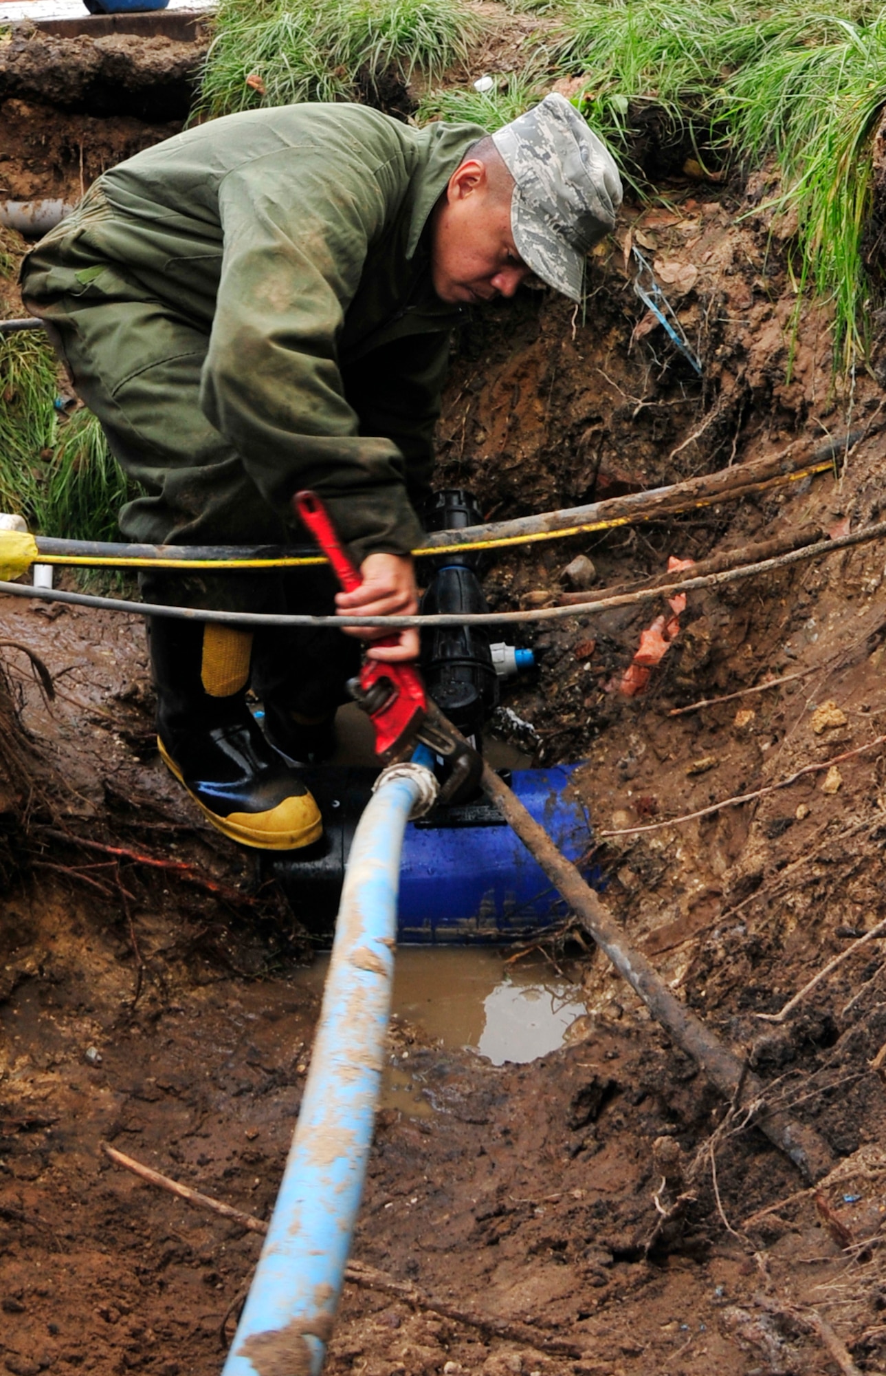
{"type": "MultiPolygon", "coordinates": [[[[581,300],[615,223],[612,158],[559,95],[486,135],[358,105],[234,114],[106,172],[26,257],[22,292],[144,495],[133,541],[286,544],[315,488],[363,583],[326,570],[151,572],[147,601],[413,614],[450,332],[527,272],[581,300]]],[[[354,636],[354,633],[351,633],[354,636]]],[[[417,634],[367,654],[414,658],[417,634]]],[[[322,821],[294,764],[322,758],[356,669],[340,632],[253,637],[154,616],[158,744],[213,826],[292,849],[322,821]],[[266,732],[246,706],[252,682],[266,732]]]]}

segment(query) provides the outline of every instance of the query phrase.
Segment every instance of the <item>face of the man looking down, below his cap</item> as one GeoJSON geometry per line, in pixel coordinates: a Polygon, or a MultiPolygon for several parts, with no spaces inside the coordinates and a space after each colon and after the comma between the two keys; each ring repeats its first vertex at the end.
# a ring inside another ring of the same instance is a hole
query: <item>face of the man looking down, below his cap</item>
{"type": "Polygon", "coordinates": [[[435,292],[442,301],[491,301],[513,296],[528,271],[510,233],[509,191],[490,182],[483,162],[462,162],[435,211],[435,292]]]}

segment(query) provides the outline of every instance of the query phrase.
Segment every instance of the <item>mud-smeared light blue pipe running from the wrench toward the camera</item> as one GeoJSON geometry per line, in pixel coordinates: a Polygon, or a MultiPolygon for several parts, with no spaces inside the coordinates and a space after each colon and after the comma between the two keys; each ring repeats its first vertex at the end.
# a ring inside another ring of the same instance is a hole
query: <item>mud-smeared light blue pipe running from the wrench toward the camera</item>
{"type": "Polygon", "coordinates": [[[322,1369],[381,1090],[403,832],[433,806],[431,764],[422,746],[385,769],[358,824],[299,1121],[223,1376],[322,1369]]]}

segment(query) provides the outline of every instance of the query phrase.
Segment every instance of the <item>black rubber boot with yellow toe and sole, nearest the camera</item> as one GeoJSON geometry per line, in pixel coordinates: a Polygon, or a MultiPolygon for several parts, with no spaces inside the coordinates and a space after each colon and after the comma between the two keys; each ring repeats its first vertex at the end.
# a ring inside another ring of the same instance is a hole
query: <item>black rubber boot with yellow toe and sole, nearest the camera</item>
{"type": "Polygon", "coordinates": [[[213,827],[263,850],[319,841],[316,802],[261,735],[245,688],[206,692],[204,623],[154,616],[150,644],[160,754],[213,827]]]}

